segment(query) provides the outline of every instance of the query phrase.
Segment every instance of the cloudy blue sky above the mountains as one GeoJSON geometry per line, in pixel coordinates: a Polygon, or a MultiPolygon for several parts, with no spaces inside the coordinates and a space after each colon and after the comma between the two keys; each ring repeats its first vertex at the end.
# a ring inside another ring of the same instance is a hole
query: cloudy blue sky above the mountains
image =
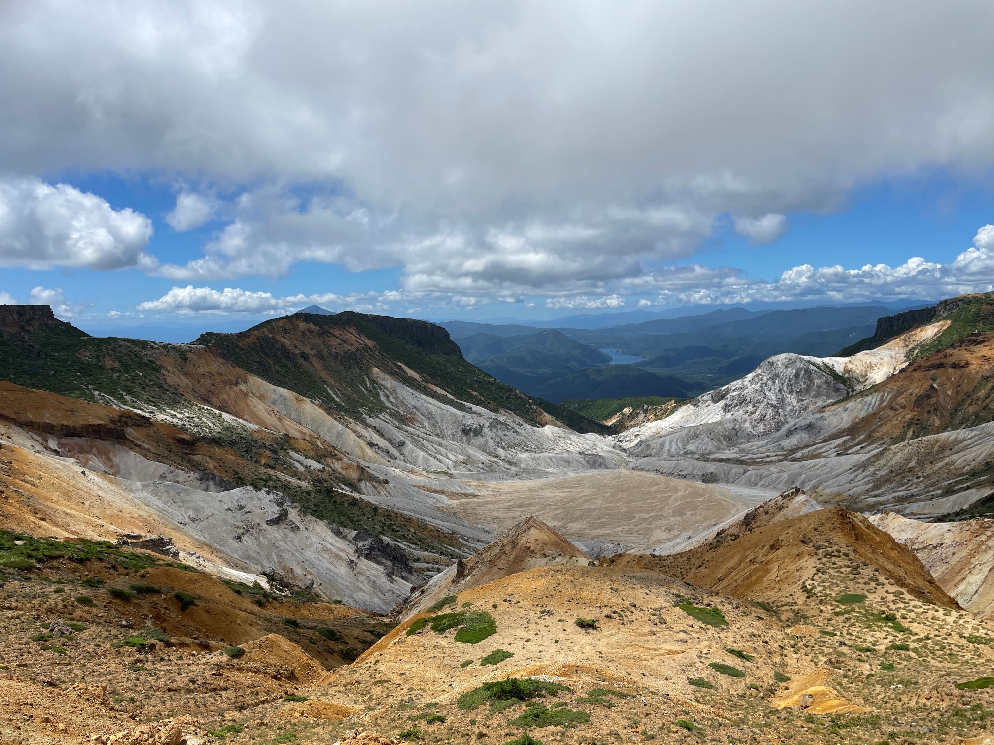
{"type": "Polygon", "coordinates": [[[0,303],[78,323],[994,289],[988,0],[4,0],[0,303]]]}

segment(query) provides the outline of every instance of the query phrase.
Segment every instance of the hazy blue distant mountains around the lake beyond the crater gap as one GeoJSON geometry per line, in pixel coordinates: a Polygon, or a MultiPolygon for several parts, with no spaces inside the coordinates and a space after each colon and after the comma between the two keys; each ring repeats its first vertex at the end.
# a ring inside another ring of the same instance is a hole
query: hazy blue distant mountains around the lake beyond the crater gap
{"type": "Polygon", "coordinates": [[[823,357],[858,343],[875,333],[877,319],[889,316],[894,305],[721,308],[677,318],[646,311],[580,315],[538,332],[523,324],[448,321],[441,326],[467,360],[530,395],[552,401],[688,397],[752,372],[771,355],[823,357]],[[605,325],[624,320],[629,323],[605,325]],[[612,365],[602,350],[635,362],[612,365]]]}

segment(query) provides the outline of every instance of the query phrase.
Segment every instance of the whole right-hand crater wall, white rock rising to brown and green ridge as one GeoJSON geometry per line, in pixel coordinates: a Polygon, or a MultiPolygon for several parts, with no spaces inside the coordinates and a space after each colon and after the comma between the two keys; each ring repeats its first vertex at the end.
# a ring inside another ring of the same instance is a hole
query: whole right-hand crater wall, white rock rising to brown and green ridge
{"type": "Polygon", "coordinates": [[[852,357],[771,358],[616,440],[654,473],[796,485],[867,511],[959,510],[994,489],[994,302],[954,301],[852,357]]]}

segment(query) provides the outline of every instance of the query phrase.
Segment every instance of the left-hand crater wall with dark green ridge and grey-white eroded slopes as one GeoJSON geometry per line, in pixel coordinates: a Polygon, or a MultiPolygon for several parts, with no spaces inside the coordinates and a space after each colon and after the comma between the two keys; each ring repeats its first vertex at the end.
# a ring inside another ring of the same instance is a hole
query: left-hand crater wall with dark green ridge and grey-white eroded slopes
{"type": "Polygon", "coordinates": [[[52,506],[67,532],[112,537],[140,515],[223,569],[387,611],[492,537],[438,510],[472,489],[455,477],[623,462],[557,416],[599,425],[468,365],[431,324],[299,315],[199,341],[96,339],[0,307],[0,445],[87,472],[60,477],[86,495],[52,506]]]}

